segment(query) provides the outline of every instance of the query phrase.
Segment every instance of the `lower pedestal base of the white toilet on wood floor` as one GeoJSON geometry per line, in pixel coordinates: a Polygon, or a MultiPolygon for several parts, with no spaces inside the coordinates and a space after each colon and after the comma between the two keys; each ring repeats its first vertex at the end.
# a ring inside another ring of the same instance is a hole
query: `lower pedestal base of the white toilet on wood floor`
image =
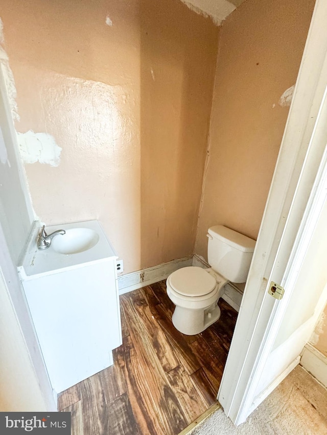
{"type": "Polygon", "coordinates": [[[193,336],[204,331],[220,317],[218,301],[200,310],[176,306],[172,321],[175,328],[182,334],[193,336]]]}

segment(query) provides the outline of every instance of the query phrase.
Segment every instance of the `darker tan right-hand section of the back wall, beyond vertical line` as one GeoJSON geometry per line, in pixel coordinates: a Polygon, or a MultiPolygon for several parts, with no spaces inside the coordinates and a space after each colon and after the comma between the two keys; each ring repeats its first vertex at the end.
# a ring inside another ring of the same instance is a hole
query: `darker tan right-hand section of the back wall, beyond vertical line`
{"type": "Polygon", "coordinates": [[[193,253],[218,28],[182,3],[143,6],[141,258],[149,265],[149,254],[160,264],[193,253]],[[166,28],[158,26],[163,16],[166,28]]]}

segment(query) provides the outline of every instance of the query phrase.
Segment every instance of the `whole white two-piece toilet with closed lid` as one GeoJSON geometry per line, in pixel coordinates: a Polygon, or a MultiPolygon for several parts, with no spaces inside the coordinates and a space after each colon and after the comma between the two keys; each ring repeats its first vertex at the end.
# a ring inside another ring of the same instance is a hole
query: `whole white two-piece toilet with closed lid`
{"type": "Polygon", "coordinates": [[[183,267],[167,278],[167,294],[176,305],[173,324],[186,335],[204,331],[220,317],[218,299],[228,281],[245,283],[255,241],[223,225],[208,229],[210,269],[183,267]]]}

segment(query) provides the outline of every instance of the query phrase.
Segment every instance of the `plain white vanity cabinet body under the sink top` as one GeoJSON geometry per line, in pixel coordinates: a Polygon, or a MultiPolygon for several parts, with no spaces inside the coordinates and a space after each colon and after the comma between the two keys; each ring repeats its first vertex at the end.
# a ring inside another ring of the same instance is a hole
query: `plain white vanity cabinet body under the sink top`
{"type": "Polygon", "coordinates": [[[67,267],[40,273],[36,258],[51,257],[50,249],[35,252],[29,265],[38,273],[20,273],[44,362],[59,393],[112,365],[112,349],[122,344],[122,334],[117,257],[111,246],[103,258],[78,264],[78,254],[65,255],[67,267]],[[69,257],[76,264],[69,266],[69,257]]]}

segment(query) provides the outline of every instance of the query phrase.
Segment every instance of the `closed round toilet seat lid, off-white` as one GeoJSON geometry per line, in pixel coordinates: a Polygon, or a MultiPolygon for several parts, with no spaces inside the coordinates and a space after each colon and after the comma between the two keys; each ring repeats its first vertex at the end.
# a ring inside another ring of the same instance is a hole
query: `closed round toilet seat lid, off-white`
{"type": "Polygon", "coordinates": [[[214,276],[201,267],[183,267],[173,272],[169,278],[170,287],[181,296],[198,298],[212,293],[217,287],[214,276]]]}

